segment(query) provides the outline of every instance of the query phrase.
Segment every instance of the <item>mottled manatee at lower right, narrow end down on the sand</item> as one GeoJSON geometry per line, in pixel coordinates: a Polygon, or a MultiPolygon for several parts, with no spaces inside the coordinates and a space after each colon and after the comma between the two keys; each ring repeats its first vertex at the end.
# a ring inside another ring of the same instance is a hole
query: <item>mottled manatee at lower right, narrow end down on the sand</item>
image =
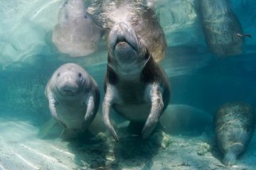
{"type": "Polygon", "coordinates": [[[252,138],[255,113],[247,103],[226,103],[215,115],[215,135],[223,164],[233,165],[252,138]]]}

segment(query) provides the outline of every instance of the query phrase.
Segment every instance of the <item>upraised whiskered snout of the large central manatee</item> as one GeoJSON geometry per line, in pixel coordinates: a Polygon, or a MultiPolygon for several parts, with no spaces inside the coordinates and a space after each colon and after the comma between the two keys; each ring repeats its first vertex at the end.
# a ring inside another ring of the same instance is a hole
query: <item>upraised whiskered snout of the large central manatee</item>
{"type": "Polygon", "coordinates": [[[110,54],[119,62],[131,63],[136,60],[139,42],[137,34],[129,23],[116,23],[110,31],[108,42],[110,54]]]}

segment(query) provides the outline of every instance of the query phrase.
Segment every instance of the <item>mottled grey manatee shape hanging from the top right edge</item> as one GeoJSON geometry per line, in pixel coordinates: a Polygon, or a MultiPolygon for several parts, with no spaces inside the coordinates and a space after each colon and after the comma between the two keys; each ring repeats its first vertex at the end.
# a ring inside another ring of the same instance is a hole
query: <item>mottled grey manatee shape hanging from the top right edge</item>
{"type": "Polygon", "coordinates": [[[242,52],[244,38],[238,17],[228,0],[199,0],[199,16],[206,44],[218,56],[238,55],[242,52]]]}

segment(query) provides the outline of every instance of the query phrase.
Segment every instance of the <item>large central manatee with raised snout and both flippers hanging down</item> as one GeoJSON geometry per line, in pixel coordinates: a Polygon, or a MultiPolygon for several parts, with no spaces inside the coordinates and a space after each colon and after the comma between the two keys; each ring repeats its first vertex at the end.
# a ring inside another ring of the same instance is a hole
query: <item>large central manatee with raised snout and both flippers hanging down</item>
{"type": "Polygon", "coordinates": [[[107,42],[106,93],[102,103],[105,125],[118,141],[110,123],[110,108],[114,108],[131,123],[144,125],[142,138],[146,139],[169,103],[169,81],[129,23],[116,23],[107,42]]]}

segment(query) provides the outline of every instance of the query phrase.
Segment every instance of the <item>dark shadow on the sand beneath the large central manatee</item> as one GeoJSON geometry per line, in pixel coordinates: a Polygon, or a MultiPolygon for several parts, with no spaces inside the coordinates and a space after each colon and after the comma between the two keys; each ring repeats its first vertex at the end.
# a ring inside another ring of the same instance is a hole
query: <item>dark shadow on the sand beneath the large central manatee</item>
{"type": "Polygon", "coordinates": [[[132,135],[119,137],[119,142],[109,136],[101,140],[95,140],[97,137],[82,137],[70,141],[68,150],[75,154],[75,164],[81,169],[118,170],[142,167],[145,170],[151,169],[153,158],[161,149],[161,137],[156,132],[149,140],[132,135]]]}

